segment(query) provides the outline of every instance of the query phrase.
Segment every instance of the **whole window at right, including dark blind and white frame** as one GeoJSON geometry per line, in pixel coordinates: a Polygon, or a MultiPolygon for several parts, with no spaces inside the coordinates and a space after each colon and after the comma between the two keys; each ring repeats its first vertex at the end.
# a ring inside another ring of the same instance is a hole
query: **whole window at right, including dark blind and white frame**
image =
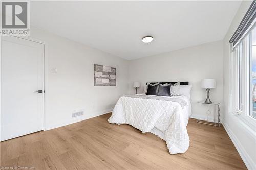
{"type": "Polygon", "coordinates": [[[230,40],[229,111],[256,128],[256,1],[230,40]]]}

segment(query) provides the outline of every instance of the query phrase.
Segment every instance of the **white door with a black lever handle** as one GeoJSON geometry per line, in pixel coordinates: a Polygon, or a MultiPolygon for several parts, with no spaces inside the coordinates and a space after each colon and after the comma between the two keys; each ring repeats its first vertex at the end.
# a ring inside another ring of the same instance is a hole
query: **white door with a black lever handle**
{"type": "Polygon", "coordinates": [[[1,141],[43,129],[44,45],[1,36],[1,141]]]}

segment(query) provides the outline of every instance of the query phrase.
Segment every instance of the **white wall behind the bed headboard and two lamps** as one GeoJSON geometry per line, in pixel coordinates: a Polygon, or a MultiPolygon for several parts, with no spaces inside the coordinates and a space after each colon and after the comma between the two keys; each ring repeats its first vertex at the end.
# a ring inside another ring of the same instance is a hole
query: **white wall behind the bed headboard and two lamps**
{"type": "MultiPolygon", "coordinates": [[[[206,99],[206,90],[201,88],[201,79],[213,78],[217,87],[211,89],[210,98],[222,106],[222,72],[223,72],[223,42],[216,41],[203,45],[132,60],[129,63],[130,93],[135,93],[133,81],[161,82],[161,81],[189,81],[192,85],[191,103],[193,117],[207,119],[208,105],[198,104],[197,101],[206,99]]],[[[143,92],[144,87],[138,89],[143,92]]],[[[212,109],[212,108],[211,108],[212,109]]],[[[209,120],[212,120],[212,114],[209,120]]]]}

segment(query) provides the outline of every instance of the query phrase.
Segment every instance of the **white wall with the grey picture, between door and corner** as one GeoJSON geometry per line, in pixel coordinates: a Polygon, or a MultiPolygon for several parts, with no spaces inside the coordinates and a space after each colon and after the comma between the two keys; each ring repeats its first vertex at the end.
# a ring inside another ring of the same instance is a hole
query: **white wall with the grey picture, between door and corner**
{"type": "Polygon", "coordinates": [[[32,28],[31,37],[49,46],[45,129],[112,111],[119,96],[127,93],[128,61],[36,28],[32,28]],[[116,67],[117,85],[95,87],[93,64],[116,67]],[[57,73],[52,73],[52,68],[57,73]],[[71,118],[79,109],[84,109],[84,116],[71,118]]]}

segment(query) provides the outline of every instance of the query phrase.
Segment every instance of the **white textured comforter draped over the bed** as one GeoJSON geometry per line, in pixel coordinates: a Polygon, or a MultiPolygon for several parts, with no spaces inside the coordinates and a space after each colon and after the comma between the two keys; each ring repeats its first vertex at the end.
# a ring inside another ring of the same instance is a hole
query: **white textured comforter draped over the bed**
{"type": "Polygon", "coordinates": [[[157,128],[164,133],[170,154],[184,153],[189,146],[186,125],[190,101],[181,96],[171,98],[180,98],[189,104],[182,108],[178,102],[122,96],[108,121],[130,124],[143,133],[157,128]]]}

